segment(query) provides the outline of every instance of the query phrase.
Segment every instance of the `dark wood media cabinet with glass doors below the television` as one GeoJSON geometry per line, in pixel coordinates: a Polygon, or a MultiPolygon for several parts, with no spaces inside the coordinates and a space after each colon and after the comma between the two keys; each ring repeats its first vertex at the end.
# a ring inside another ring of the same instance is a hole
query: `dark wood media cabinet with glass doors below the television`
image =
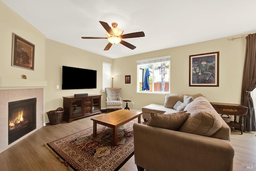
{"type": "Polygon", "coordinates": [[[63,97],[63,108],[63,119],[67,122],[101,114],[101,95],[63,97]]]}

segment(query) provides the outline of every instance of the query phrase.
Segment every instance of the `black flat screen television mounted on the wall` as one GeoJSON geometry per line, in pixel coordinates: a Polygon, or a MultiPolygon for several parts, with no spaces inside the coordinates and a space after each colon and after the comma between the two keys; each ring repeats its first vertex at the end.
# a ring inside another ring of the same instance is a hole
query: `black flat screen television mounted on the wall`
{"type": "Polygon", "coordinates": [[[97,71],[62,66],[62,89],[97,88],[97,71]]]}

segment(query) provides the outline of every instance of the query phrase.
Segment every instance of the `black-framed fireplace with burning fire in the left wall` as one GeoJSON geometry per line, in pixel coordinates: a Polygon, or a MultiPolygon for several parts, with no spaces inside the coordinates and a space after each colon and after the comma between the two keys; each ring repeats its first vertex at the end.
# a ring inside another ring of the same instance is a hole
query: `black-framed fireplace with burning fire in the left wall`
{"type": "Polygon", "coordinates": [[[8,102],[8,144],[36,129],[36,98],[8,102]]]}

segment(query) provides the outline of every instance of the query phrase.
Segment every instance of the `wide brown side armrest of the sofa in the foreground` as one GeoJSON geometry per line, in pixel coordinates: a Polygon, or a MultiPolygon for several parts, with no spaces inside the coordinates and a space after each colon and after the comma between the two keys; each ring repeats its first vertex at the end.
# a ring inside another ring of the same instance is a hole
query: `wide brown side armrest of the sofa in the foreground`
{"type": "Polygon", "coordinates": [[[134,123],[135,164],[150,170],[232,171],[229,141],[134,123]]]}

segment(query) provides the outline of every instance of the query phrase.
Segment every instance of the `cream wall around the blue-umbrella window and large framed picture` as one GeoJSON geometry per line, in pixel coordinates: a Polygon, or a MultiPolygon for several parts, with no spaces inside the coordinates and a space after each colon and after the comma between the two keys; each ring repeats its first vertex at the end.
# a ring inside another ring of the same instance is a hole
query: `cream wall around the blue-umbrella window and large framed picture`
{"type": "MultiPolygon", "coordinates": [[[[247,36],[247,34],[232,37],[240,36],[247,36]]],[[[170,93],[202,93],[212,102],[240,104],[246,39],[232,41],[232,37],[115,59],[114,86],[122,87],[122,99],[134,102],[134,105],[128,104],[130,108],[141,110],[141,107],[150,103],[163,104],[164,94],[136,93],[136,61],[171,56],[170,93]],[[220,52],[219,87],[190,87],[189,56],[208,52],[220,52]],[[124,83],[125,75],[131,75],[131,84],[124,83]]]]}

